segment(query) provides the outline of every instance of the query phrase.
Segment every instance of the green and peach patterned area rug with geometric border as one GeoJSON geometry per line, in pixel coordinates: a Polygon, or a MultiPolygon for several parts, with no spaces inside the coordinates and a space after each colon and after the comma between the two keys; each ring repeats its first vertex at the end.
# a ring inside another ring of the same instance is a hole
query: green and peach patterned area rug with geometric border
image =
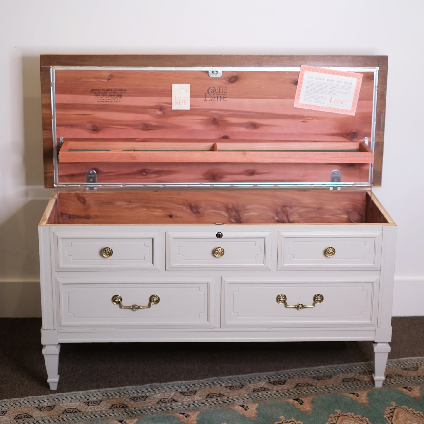
{"type": "Polygon", "coordinates": [[[424,357],[0,401],[0,424],[424,424],[424,357]]]}

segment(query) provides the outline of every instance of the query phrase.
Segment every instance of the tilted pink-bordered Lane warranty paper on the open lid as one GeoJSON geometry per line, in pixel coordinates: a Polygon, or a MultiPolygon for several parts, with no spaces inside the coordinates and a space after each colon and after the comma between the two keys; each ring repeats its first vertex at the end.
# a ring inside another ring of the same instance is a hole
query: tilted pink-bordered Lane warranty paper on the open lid
{"type": "Polygon", "coordinates": [[[354,115],[362,74],[302,65],[294,107],[354,115]]]}

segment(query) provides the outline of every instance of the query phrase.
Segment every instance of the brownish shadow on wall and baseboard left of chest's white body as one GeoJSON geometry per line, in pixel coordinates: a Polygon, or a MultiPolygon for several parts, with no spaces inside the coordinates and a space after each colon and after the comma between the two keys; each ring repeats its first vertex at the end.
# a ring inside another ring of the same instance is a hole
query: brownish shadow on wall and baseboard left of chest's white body
{"type": "Polygon", "coordinates": [[[46,200],[31,200],[0,225],[0,317],[40,317],[38,223],[46,200]]]}

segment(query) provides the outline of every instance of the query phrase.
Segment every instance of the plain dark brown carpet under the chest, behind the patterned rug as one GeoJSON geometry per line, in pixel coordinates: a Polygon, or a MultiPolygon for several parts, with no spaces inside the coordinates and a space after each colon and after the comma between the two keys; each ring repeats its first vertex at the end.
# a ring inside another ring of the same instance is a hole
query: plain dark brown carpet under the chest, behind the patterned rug
{"type": "MultiPolygon", "coordinates": [[[[389,359],[424,356],[424,316],[395,317],[389,359]]],[[[0,318],[0,399],[53,393],[41,319],[0,318]]],[[[371,342],[62,343],[56,393],[373,360],[371,342]]]]}

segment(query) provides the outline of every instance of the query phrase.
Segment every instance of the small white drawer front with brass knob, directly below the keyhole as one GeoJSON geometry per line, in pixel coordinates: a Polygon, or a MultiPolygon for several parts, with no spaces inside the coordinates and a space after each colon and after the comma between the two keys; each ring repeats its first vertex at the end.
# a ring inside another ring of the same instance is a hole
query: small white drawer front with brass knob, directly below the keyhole
{"type": "Polygon", "coordinates": [[[270,232],[167,232],[167,270],[269,270],[270,232]],[[222,248],[214,256],[214,249],[222,248]]]}

